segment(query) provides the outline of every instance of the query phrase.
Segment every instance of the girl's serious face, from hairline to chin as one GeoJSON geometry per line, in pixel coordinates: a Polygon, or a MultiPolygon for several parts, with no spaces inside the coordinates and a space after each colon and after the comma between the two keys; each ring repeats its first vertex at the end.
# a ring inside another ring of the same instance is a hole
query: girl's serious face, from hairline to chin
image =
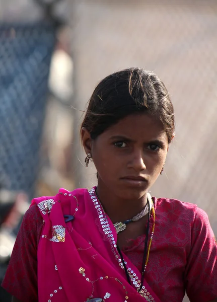
{"type": "Polygon", "coordinates": [[[121,199],[139,199],[158,178],[168,152],[168,137],[160,120],[132,114],[95,140],[83,129],[83,144],[98,172],[98,186],[121,199]]]}

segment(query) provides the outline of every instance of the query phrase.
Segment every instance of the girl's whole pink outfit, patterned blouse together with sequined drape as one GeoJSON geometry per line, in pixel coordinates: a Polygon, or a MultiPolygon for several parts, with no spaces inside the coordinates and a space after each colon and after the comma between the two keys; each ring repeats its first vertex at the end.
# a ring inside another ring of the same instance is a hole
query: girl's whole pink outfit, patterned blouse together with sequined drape
{"type": "MultiPolygon", "coordinates": [[[[6,290],[23,302],[85,302],[93,297],[105,302],[181,302],[185,291],[192,302],[217,297],[217,245],[203,210],[153,198],[156,226],[140,295],[136,286],[145,237],[122,250],[135,279],[129,285],[117,257],[113,225],[108,217],[100,220],[103,210],[91,198],[96,197],[94,190],[91,194],[85,189],[60,189],[54,197],[33,200],[3,282],[6,290]],[[75,219],[65,224],[63,214],[75,219]]],[[[152,217],[150,222],[151,230],[152,217]]]]}

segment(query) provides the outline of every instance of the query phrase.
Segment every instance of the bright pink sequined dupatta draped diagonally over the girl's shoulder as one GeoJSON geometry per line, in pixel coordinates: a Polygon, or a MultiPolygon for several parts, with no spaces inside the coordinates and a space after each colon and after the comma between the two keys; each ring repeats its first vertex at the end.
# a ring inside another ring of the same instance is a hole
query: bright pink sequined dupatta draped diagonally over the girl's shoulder
{"type": "Polygon", "coordinates": [[[90,192],[60,189],[55,197],[35,198],[43,217],[38,245],[39,302],[160,302],[141,273],[123,254],[131,285],[127,282],[116,249],[117,234],[98,201],[90,192]],[[64,215],[74,215],[65,222],[64,215]]]}

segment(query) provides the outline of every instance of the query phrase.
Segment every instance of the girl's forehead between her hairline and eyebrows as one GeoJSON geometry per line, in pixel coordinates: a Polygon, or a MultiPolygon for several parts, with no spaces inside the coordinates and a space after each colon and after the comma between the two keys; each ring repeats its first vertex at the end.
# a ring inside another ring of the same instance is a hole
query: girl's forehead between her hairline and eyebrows
{"type": "Polygon", "coordinates": [[[168,140],[162,122],[147,113],[128,115],[104,133],[108,136],[123,135],[135,140],[154,138],[168,140]]]}

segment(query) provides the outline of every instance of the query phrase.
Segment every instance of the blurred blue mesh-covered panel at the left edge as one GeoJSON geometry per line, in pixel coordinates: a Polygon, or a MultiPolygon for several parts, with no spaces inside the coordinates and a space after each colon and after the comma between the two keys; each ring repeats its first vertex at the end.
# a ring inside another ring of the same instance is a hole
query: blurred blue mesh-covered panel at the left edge
{"type": "Polygon", "coordinates": [[[0,182],[32,193],[55,28],[0,26],[0,182]]]}

